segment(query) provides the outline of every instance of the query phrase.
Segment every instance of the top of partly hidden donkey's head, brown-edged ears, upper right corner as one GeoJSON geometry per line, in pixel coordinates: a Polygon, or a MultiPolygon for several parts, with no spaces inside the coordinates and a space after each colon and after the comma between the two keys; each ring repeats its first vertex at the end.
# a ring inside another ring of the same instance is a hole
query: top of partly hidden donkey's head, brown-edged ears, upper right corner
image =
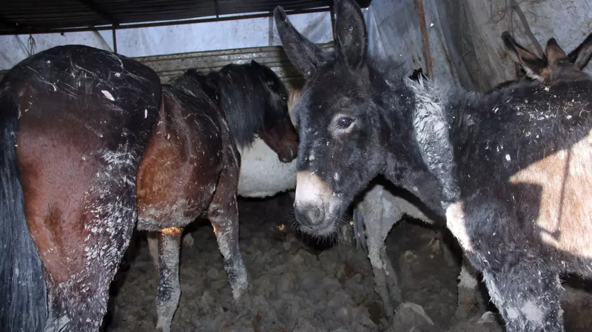
{"type": "Polygon", "coordinates": [[[522,65],[529,79],[543,83],[589,79],[588,74],[582,70],[592,56],[592,34],[570,54],[565,54],[555,38],[551,38],[547,41],[544,58],[539,58],[518,44],[507,31],[501,34],[501,39],[514,61],[522,65]]]}

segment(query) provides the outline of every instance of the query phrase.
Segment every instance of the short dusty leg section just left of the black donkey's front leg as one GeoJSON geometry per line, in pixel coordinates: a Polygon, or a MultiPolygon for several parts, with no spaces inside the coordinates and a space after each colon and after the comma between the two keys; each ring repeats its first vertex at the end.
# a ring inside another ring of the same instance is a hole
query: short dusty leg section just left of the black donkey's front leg
{"type": "Polygon", "coordinates": [[[462,259],[461,273],[458,276],[458,280],[458,302],[455,318],[457,321],[461,321],[467,318],[471,310],[475,307],[475,298],[478,295],[477,270],[473,268],[466,258],[462,259]]]}

